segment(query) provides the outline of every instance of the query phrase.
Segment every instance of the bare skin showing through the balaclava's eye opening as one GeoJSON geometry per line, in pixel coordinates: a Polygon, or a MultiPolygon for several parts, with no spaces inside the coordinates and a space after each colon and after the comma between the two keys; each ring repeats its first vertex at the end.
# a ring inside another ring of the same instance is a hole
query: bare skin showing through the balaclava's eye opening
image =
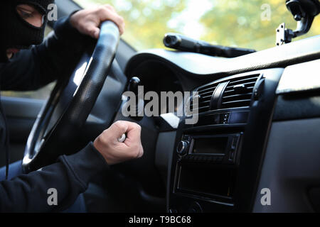
{"type": "Polygon", "coordinates": [[[18,16],[20,16],[23,21],[26,21],[31,26],[41,28],[45,22],[45,15],[38,11],[35,6],[30,4],[19,4],[16,6],[16,11],[18,16]]]}

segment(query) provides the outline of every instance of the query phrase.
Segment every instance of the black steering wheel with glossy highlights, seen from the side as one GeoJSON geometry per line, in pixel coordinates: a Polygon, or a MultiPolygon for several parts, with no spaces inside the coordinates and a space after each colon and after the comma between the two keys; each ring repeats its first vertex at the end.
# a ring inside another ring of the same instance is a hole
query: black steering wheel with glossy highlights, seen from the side
{"type": "Polygon", "coordinates": [[[75,153],[77,132],[84,125],[105,79],[119,44],[119,29],[112,21],[101,25],[100,38],[89,61],[80,62],[70,79],[58,81],[28,137],[22,161],[28,173],[50,165],[60,155],[75,153]]]}

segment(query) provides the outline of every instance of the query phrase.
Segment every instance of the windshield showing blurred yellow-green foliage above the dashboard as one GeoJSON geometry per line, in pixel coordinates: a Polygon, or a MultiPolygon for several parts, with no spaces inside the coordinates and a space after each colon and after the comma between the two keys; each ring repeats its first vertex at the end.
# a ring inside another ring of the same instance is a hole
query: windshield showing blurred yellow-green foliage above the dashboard
{"type": "MultiPolygon", "coordinates": [[[[297,26],[284,0],[75,0],[87,8],[110,4],[124,17],[122,38],[137,50],[164,48],[174,32],[212,44],[264,50],[275,46],[280,23],[297,26]]],[[[320,16],[299,40],[320,34],[320,16]]]]}

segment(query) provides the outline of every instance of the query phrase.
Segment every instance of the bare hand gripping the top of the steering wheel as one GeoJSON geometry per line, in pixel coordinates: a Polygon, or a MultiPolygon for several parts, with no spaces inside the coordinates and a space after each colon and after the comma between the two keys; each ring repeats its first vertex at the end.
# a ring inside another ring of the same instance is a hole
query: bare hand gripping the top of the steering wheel
{"type": "Polygon", "coordinates": [[[83,9],[70,17],[70,23],[74,28],[92,38],[99,38],[100,24],[103,21],[113,21],[117,24],[120,34],[124,33],[124,19],[110,5],[83,9]]]}

